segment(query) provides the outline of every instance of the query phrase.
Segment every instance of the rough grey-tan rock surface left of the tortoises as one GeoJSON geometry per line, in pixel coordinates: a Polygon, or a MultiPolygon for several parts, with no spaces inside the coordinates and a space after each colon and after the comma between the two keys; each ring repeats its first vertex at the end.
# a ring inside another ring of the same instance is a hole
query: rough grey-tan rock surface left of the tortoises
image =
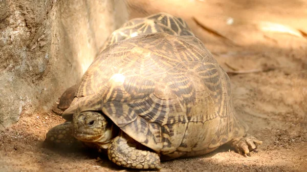
{"type": "Polygon", "coordinates": [[[127,19],[121,0],[0,1],[0,130],[49,110],[127,19]]]}

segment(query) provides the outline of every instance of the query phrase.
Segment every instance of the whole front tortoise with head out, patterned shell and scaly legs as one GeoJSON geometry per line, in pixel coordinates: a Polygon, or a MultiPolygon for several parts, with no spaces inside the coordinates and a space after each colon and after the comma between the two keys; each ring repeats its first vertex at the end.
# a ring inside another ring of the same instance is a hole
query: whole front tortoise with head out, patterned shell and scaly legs
{"type": "Polygon", "coordinates": [[[67,122],[48,140],[70,140],[62,132],[71,126],[74,138],[129,168],[161,169],[160,159],[204,155],[225,143],[248,154],[262,143],[235,116],[228,75],[194,36],[153,33],[108,46],[62,117],[67,122]]]}

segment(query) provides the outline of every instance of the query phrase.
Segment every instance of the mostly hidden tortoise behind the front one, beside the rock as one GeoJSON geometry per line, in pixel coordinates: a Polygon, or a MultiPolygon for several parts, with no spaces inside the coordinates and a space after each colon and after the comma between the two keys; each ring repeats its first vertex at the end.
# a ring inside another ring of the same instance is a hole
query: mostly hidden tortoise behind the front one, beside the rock
{"type": "MultiPolygon", "coordinates": [[[[109,45],[120,40],[131,37],[145,35],[149,33],[164,32],[171,35],[191,35],[195,36],[187,23],[180,17],[168,13],[160,12],[147,17],[134,18],[124,23],[119,29],[115,30],[105,41],[99,52],[109,45]]],[[[57,108],[66,110],[74,99],[77,84],[68,88],[60,97],[57,108]]]]}

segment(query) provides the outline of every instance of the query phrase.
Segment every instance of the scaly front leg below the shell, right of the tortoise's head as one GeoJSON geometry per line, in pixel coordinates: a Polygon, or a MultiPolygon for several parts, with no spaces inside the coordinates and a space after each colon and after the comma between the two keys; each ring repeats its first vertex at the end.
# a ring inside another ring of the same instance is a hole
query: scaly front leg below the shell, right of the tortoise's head
{"type": "Polygon", "coordinates": [[[112,140],[107,150],[109,160],[128,168],[158,170],[162,168],[158,154],[130,146],[126,137],[120,135],[112,140]]]}

